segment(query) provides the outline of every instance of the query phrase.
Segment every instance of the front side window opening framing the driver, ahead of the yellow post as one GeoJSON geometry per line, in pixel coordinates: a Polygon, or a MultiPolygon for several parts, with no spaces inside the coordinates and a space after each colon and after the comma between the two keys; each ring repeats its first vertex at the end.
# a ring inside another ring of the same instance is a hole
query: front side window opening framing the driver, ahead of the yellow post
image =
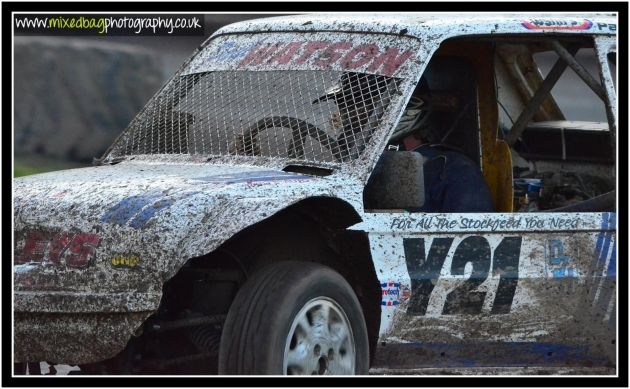
{"type": "Polygon", "coordinates": [[[427,64],[389,139],[396,151],[383,153],[368,181],[366,209],[495,211],[481,170],[478,64],[461,52],[444,45],[427,64]],[[404,182],[391,179],[402,176],[407,177],[404,182]],[[382,194],[382,185],[388,183],[396,196],[382,194]],[[391,203],[377,201],[385,198],[391,203]]]}

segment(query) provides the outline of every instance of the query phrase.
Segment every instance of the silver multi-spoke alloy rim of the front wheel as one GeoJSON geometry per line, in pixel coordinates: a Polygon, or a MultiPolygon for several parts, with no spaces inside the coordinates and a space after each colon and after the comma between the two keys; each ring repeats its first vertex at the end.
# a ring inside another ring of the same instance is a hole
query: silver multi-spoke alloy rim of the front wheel
{"type": "Polygon", "coordinates": [[[339,304],[327,297],[306,303],[287,336],[284,374],[354,374],[355,361],[352,327],[339,304]]]}

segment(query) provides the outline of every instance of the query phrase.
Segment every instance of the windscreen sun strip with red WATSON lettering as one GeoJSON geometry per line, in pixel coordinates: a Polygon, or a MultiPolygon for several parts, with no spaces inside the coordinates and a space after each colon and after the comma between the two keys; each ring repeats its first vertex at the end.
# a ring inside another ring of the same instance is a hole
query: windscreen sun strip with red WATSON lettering
{"type": "Polygon", "coordinates": [[[416,47],[400,37],[367,34],[253,34],[218,37],[183,74],[221,70],[331,70],[397,77],[416,47]]]}

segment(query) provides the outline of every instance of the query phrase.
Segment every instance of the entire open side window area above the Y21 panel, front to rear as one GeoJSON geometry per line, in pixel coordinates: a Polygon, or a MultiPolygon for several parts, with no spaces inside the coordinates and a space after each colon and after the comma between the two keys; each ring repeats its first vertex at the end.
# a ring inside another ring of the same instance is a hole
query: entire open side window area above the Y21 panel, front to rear
{"type": "MultiPolygon", "coordinates": [[[[609,64],[603,65],[611,66],[614,74],[614,58],[611,57],[608,57],[609,64]]],[[[456,130],[438,142],[465,155],[482,173],[480,177],[485,182],[481,185],[475,182],[460,189],[460,197],[468,202],[477,201],[466,199],[466,196],[478,193],[483,186],[488,188],[492,204],[471,210],[457,207],[430,210],[427,202],[434,185],[428,183],[431,173],[427,172],[427,163],[432,158],[424,156],[422,207],[377,206],[374,197],[364,193],[366,209],[394,211],[403,208],[411,212],[614,211],[615,159],[606,115],[607,99],[602,99],[605,88],[600,79],[601,65],[590,38],[545,36],[523,40],[507,36],[444,42],[427,65],[414,96],[417,94],[422,100],[424,95],[418,92],[422,89],[422,80],[429,81],[429,85],[433,83],[430,89],[435,89],[433,97],[439,97],[434,99],[438,100],[437,104],[433,104],[456,107],[443,117],[461,117],[465,124],[456,125],[456,130]],[[466,93],[455,93],[457,96],[453,98],[449,88],[436,88],[441,79],[449,80],[462,91],[468,89],[468,96],[476,97],[472,99],[473,104],[461,104],[466,101],[466,93]],[[524,121],[522,128],[514,132],[518,121],[524,121]]],[[[413,122],[408,114],[422,107],[414,96],[389,140],[386,153],[417,150],[419,146],[409,136],[413,134],[409,123],[417,126],[418,122],[413,122]]],[[[375,169],[375,172],[381,170],[375,169]]],[[[370,180],[373,179],[374,173],[370,180]]],[[[417,184],[409,182],[409,185],[417,184]]],[[[396,186],[391,190],[400,191],[399,181],[396,186]]],[[[368,183],[366,191],[369,187],[368,183]]],[[[409,203],[409,199],[405,201],[409,203]]]]}

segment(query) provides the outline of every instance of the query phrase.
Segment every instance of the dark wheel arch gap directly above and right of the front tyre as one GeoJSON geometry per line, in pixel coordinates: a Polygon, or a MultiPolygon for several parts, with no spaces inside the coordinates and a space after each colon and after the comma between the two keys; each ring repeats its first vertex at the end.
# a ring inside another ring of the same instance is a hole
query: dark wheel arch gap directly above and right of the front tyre
{"type": "Polygon", "coordinates": [[[317,262],[340,273],[363,309],[372,360],[381,321],[381,289],[367,233],[347,229],[360,221],[354,207],[342,199],[310,197],[240,231],[217,250],[239,258],[248,274],[286,260],[317,262]]]}

